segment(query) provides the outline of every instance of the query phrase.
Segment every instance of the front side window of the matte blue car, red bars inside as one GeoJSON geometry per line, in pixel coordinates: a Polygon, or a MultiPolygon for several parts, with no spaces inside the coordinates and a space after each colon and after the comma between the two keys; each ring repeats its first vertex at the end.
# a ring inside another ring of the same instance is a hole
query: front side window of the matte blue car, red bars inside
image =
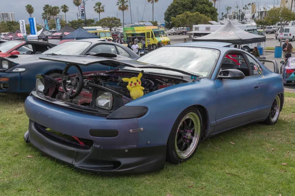
{"type": "Polygon", "coordinates": [[[238,52],[229,53],[225,56],[221,64],[221,70],[225,69],[237,69],[244,73],[246,77],[251,75],[244,56],[238,52]]]}

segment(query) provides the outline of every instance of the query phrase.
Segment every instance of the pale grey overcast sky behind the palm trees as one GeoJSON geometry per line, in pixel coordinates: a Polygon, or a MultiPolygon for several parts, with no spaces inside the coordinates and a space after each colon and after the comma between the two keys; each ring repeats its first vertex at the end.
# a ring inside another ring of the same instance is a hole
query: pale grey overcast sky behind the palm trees
{"type": "MultiPolygon", "coordinates": [[[[86,2],[86,16],[87,18],[98,18],[98,14],[94,12],[93,6],[95,2],[100,1],[105,5],[105,12],[101,13],[101,18],[108,16],[115,16],[122,20],[122,12],[118,11],[118,6],[116,5],[117,0],[87,0],[86,2]]],[[[142,18],[144,21],[151,20],[152,15],[152,6],[147,1],[148,0],[130,0],[131,1],[131,11],[133,22],[137,22],[138,18],[141,21],[142,18]],[[137,9],[138,8],[138,9],[137,9]]],[[[159,0],[155,3],[154,13],[155,20],[162,22],[164,18],[164,12],[173,0],[159,0]]],[[[259,2],[261,7],[264,7],[265,4],[268,7],[272,7],[273,2],[277,3],[281,0],[252,0],[252,2],[259,2]]],[[[220,13],[226,12],[225,6],[235,7],[235,4],[245,5],[251,0],[218,0],[216,3],[216,8],[219,9],[220,13]],[[219,5],[220,4],[220,5],[219,5]]],[[[73,4],[73,0],[1,0],[0,2],[0,12],[15,12],[16,20],[25,19],[28,21],[29,14],[26,12],[25,6],[31,4],[34,7],[33,17],[36,18],[37,23],[42,22],[41,14],[43,12],[44,4],[50,4],[52,6],[61,6],[66,4],[69,7],[69,12],[78,12],[78,7],[73,4]]],[[[73,13],[67,13],[67,20],[77,19],[77,15],[73,13]]],[[[60,13],[63,14],[63,13],[60,13]]],[[[125,14],[125,23],[130,23],[130,11],[124,12],[125,14]]]]}

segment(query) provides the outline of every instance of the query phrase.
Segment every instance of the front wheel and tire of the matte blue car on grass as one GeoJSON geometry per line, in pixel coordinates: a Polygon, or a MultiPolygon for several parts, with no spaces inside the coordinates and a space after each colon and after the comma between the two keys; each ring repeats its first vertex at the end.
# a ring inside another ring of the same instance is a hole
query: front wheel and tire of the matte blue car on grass
{"type": "Polygon", "coordinates": [[[195,107],[184,110],[173,125],[167,142],[167,161],[179,164],[196,152],[205,130],[202,115],[195,107]]]}

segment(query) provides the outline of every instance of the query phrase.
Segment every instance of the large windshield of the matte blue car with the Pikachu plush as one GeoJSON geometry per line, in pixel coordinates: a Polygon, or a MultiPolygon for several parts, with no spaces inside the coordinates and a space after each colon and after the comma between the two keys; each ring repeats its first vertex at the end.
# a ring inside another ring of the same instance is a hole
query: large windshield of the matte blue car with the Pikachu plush
{"type": "MultiPolygon", "coordinates": [[[[197,47],[162,47],[150,52],[137,61],[172,69],[209,76],[219,58],[217,49],[197,47]]],[[[146,72],[175,74],[167,70],[144,69],[146,72]]],[[[177,73],[180,74],[180,73],[177,73]]]]}

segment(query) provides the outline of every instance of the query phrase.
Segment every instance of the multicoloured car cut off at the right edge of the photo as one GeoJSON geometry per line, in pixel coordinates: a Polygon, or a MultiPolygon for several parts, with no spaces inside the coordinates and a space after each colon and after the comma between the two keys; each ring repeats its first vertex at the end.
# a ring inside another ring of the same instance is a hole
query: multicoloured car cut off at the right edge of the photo
{"type": "Polygon", "coordinates": [[[283,76],[284,85],[295,83],[295,57],[290,57],[288,60],[281,61],[280,73],[283,76]]]}

